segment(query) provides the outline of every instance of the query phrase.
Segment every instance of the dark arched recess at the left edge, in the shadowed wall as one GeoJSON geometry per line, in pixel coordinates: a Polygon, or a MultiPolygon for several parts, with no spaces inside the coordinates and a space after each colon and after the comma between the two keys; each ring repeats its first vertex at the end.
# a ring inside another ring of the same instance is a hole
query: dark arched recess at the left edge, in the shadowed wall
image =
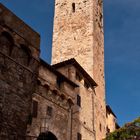
{"type": "Polygon", "coordinates": [[[0,35],[0,52],[9,55],[12,51],[14,40],[8,32],[2,32],[0,35]]]}

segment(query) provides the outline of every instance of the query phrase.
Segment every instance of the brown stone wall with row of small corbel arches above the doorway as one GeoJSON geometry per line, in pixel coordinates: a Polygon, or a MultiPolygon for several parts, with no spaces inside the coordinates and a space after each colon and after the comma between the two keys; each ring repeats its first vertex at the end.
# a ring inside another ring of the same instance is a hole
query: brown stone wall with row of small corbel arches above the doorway
{"type": "MultiPolygon", "coordinates": [[[[38,88],[33,100],[38,102],[37,116],[32,117],[28,125],[27,135],[38,137],[42,132],[53,133],[58,140],[70,140],[71,137],[71,106],[75,100],[75,87],[63,81],[57,84],[57,73],[48,68],[48,64],[40,65],[38,88]],[[52,108],[48,114],[47,108],[52,108]]],[[[49,66],[51,67],[51,66],[49,66]]],[[[63,78],[63,76],[61,77],[63,78]]]]}

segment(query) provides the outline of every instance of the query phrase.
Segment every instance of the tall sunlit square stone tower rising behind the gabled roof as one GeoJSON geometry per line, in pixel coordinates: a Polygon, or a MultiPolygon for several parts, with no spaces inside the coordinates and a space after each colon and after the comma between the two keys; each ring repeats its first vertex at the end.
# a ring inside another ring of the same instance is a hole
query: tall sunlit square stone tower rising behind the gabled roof
{"type": "Polygon", "coordinates": [[[96,81],[95,131],[106,133],[102,0],[55,0],[52,64],[75,58],[96,81]]]}

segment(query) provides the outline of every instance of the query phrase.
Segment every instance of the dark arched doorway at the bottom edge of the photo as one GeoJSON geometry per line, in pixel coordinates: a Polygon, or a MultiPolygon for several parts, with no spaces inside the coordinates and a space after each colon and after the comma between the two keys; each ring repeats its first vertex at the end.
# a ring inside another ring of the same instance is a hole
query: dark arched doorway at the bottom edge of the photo
{"type": "Polygon", "coordinates": [[[40,133],[37,140],[58,140],[50,131],[40,133]]]}

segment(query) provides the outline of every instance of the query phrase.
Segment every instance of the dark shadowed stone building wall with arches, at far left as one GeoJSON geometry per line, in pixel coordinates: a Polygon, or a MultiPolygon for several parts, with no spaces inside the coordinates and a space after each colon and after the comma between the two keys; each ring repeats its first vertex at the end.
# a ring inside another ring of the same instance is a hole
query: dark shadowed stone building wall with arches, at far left
{"type": "Polygon", "coordinates": [[[11,135],[26,134],[38,77],[39,46],[26,40],[26,32],[38,41],[39,36],[23,22],[22,33],[25,34],[18,34],[15,28],[20,26],[21,20],[1,4],[0,12],[0,135],[12,139],[11,135]]]}

